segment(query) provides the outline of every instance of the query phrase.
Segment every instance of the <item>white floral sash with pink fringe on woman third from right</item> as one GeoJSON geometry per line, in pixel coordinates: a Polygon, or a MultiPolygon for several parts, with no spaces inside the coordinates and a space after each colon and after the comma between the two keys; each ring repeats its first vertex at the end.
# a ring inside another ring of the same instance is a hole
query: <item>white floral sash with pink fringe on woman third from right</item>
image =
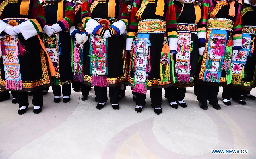
{"type": "Polygon", "coordinates": [[[190,33],[178,33],[178,50],[175,63],[175,82],[192,82],[190,53],[193,49],[190,33]]]}

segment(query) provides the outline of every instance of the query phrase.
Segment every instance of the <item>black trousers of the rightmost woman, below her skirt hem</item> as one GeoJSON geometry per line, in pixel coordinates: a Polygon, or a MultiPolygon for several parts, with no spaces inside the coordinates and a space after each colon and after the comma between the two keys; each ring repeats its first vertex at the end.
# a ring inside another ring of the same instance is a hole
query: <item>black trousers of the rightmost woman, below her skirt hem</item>
{"type": "Polygon", "coordinates": [[[240,99],[242,99],[241,92],[242,92],[242,90],[239,90],[239,89],[224,87],[223,92],[222,92],[222,98],[228,99],[228,100],[230,98],[240,100],[240,99]]]}

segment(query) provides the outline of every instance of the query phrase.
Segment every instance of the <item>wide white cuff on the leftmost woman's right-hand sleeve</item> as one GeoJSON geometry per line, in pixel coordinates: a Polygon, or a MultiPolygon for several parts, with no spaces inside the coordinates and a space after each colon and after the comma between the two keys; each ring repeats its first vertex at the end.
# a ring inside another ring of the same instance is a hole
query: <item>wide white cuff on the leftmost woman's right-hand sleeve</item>
{"type": "Polygon", "coordinates": [[[38,34],[34,25],[29,20],[22,22],[21,24],[17,25],[17,27],[25,40],[38,34]]]}

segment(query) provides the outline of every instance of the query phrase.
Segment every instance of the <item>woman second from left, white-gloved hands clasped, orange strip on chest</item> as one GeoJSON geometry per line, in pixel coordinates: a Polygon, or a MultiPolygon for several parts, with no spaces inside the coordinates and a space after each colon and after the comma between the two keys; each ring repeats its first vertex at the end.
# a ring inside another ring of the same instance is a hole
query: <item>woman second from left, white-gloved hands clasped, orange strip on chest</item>
{"type": "Polygon", "coordinates": [[[69,27],[73,26],[75,14],[66,0],[46,0],[42,5],[46,17],[43,42],[57,72],[53,77],[54,102],[60,102],[62,85],[63,102],[67,103],[73,82],[69,27]]]}

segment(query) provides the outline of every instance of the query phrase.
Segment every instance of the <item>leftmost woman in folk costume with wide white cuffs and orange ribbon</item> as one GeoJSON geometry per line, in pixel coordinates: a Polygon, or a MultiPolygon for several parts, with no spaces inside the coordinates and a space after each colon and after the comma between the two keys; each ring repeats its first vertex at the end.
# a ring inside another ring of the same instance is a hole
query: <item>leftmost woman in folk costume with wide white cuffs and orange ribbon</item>
{"type": "Polygon", "coordinates": [[[51,86],[51,75],[56,74],[38,36],[44,25],[44,9],[38,0],[2,1],[0,85],[3,89],[17,91],[19,114],[26,113],[28,108],[28,91],[34,91],[34,114],[41,112],[42,88],[51,86]]]}

